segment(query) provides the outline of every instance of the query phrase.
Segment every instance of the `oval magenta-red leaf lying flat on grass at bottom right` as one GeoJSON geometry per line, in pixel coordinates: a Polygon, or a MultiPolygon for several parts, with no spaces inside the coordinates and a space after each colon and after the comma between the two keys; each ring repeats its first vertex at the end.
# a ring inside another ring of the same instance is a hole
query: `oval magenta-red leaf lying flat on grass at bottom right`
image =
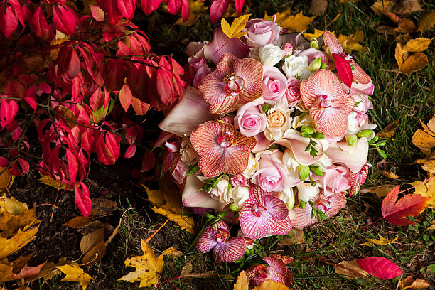
{"type": "Polygon", "coordinates": [[[403,273],[397,264],[384,257],[367,257],[358,259],[357,263],[365,272],[380,279],[393,279],[403,273]]]}

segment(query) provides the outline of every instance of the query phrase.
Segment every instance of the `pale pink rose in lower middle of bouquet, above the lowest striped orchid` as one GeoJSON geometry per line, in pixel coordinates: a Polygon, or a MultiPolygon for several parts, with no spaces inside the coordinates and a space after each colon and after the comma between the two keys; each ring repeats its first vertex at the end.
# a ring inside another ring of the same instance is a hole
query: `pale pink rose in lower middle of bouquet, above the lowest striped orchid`
{"type": "Polygon", "coordinates": [[[282,152],[278,150],[257,153],[255,159],[258,159],[259,169],[252,176],[252,183],[269,192],[281,192],[288,188],[289,178],[282,156],[282,152]]]}

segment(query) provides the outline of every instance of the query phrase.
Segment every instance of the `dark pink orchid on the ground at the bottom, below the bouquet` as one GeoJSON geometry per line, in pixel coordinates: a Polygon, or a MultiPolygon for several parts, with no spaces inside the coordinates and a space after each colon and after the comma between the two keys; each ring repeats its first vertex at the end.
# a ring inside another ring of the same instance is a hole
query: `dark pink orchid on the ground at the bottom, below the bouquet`
{"type": "Polygon", "coordinates": [[[293,262],[293,258],[273,254],[271,257],[266,257],[263,260],[269,264],[269,267],[263,264],[257,264],[246,270],[249,283],[255,286],[262,284],[262,282],[266,280],[272,280],[286,286],[293,283],[293,274],[291,274],[286,266],[286,264],[293,262]]]}

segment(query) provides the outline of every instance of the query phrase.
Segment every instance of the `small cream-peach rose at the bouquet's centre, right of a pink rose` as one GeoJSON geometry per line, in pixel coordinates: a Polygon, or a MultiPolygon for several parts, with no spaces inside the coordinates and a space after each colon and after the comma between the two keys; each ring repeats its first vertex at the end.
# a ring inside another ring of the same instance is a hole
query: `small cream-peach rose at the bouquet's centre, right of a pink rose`
{"type": "Polygon", "coordinates": [[[264,136],[268,140],[279,140],[284,136],[284,133],[291,127],[291,112],[293,112],[293,108],[289,108],[289,105],[284,102],[279,102],[267,111],[264,136]]]}

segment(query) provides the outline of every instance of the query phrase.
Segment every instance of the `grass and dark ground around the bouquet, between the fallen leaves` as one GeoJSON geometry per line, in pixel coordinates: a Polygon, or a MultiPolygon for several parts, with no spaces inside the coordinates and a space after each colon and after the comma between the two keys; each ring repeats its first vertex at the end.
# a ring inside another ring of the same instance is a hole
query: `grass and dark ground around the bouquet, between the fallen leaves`
{"type": "MultiPolygon", "coordinates": [[[[309,1],[263,0],[251,1],[249,12],[254,16],[269,15],[275,11],[284,11],[291,8],[296,14],[299,11],[308,13],[309,1]],[[297,4],[296,4],[296,3],[297,4]]],[[[380,161],[375,151],[370,154],[372,172],[367,186],[383,183],[404,184],[414,180],[422,180],[424,171],[412,162],[422,154],[412,145],[411,138],[414,131],[420,127],[419,119],[426,122],[434,114],[434,75],[435,57],[434,42],[431,43],[426,55],[429,65],[423,70],[410,75],[396,73],[394,65],[394,40],[377,33],[375,28],[379,25],[392,25],[386,17],[377,16],[370,10],[372,1],[358,1],[356,4],[340,4],[338,1],[329,1],[327,13],[324,17],[316,17],[311,24],[312,28],[326,28],[345,35],[354,33],[358,28],[363,29],[365,39],[363,45],[367,53],[354,53],[354,57],[365,71],[372,76],[375,83],[375,93],[372,96],[374,109],[370,111],[370,118],[378,127],[383,128],[391,122],[396,122],[397,129],[394,137],[389,139],[385,150],[387,152],[387,168],[382,170],[393,171],[399,178],[391,181],[380,174],[377,162],[380,161]],[[333,19],[340,16],[336,21],[333,19]],[[333,23],[332,23],[333,22],[333,23]]],[[[434,6],[422,4],[423,9],[433,10],[434,6]]],[[[414,22],[421,17],[421,13],[409,16],[414,22]]],[[[153,48],[158,53],[174,53],[181,63],[186,63],[183,50],[189,41],[210,41],[213,26],[208,16],[201,16],[194,26],[172,26],[176,16],[167,18],[167,14],[157,13],[154,31],[151,31],[153,48]]],[[[148,23],[144,18],[142,27],[146,31],[148,23]]],[[[430,37],[431,31],[424,33],[430,37]]],[[[417,36],[419,37],[419,36],[417,36]]],[[[397,227],[385,221],[380,221],[362,228],[381,216],[380,203],[382,200],[375,195],[357,195],[351,198],[348,206],[331,220],[318,223],[304,230],[306,242],[301,245],[280,247],[276,244],[276,237],[262,239],[249,261],[245,262],[246,269],[251,264],[261,262],[263,257],[271,253],[286,254],[294,257],[295,262],[289,267],[294,274],[295,289],[396,289],[397,279],[391,281],[375,278],[349,280],[334,273],[329,263],[338,263],[369,256],[382,256],[397,263],[406,274],[414,274],[425,278],[431,285],[435,284],[434,276],[422,276],[419,269],[434,262],[434,232],[426,230],[434,220],[434,210],[426,210],[424,215],[415,219],[414,226],[397,227]],[[365,238],[377,237],[380,234],[392,240],[398,236],[397,243],[381,246],[360,245],[365,238]],[[274,245],[275,244],[275,245],[274,245]],[[274,247],[271,247],[274,245],[274,247]]],[[[124,200],[121,204],[128,204],[124,200]]],[[[119,235],[109,246],[107,255],[102,262],[98,262],[92,269],[95,281],[88,289],[139,289],[139,284],[129,284],[117,281],[132,268],[122,267],[124,259],[141,254],[140,238],[149,237],[165,220],[161,216],[150,213],[149,206],[142,204],[135,209],[126,211],[119,235]]],[[[199,222],[200,223],[200,222],[199,222]]],[[[197,225],[198,227],[200,225],[197,225]]],[[[161,284],[159,289],[232,289],[233,281],[227,278],[237,277],[238,264],[216,265],[209,254],[200,254],[194,250],[187,252],[194,236],[169,223],[149,242],[157,252],[173,246],[183,252],[178,259],[166,259],[160,281],[172,279],[180,275],[183,267],[191,263],[192,272],[204,273],[214,271],[219,276],[207,279],[175,279],[161,284]]],[[[59,283],[59,277],[48,281],[41,289],[78,289],[76,284],[59,283]]],[[[34,285],[35,286],[35,285],[34,285]]],[[[34,287],[33,286],[33,287],[34,287]]],[[[38,289],[38,288],[35,288],[38,289]]],[[[149,289],[154,289],[150,287],[149,289]]]]}

